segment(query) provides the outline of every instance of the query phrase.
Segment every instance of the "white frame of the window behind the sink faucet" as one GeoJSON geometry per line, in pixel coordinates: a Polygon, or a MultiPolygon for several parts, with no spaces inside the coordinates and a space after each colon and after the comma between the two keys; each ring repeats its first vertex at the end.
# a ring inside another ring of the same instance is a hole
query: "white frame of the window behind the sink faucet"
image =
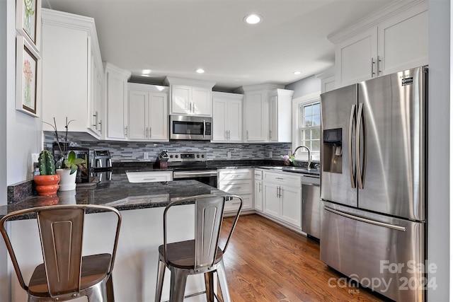
{"type": "MultiPolygon", "coordinates": [[[[292,152],[298,147],[302,146],[302,134],[300,133],[300,129],[314,129],[315,127],[300,127],[301,126],[301,114],[300,114],[300,108],[303,108],[304,105],[310,105],[314,103],[319,103],[321,104],[321,93],[311,93],[309,95],[304,95],[299,98],[295,98],[292,100],[292,152]]],[[[319,113],[321,115],[321,108],[319,110],[319,113]]],[[[319,148],[321,149],[321,125],[319,125],[319,148]]],[[[320,151],[311,151],[311,161],[320,161],[321,158],[321,150],[320,151]]],[[[308,161],[308,151],[306,149],[299,149],[297,151],[297,154],[295,154],[295,159],[296,161],[308,161]]]]}

